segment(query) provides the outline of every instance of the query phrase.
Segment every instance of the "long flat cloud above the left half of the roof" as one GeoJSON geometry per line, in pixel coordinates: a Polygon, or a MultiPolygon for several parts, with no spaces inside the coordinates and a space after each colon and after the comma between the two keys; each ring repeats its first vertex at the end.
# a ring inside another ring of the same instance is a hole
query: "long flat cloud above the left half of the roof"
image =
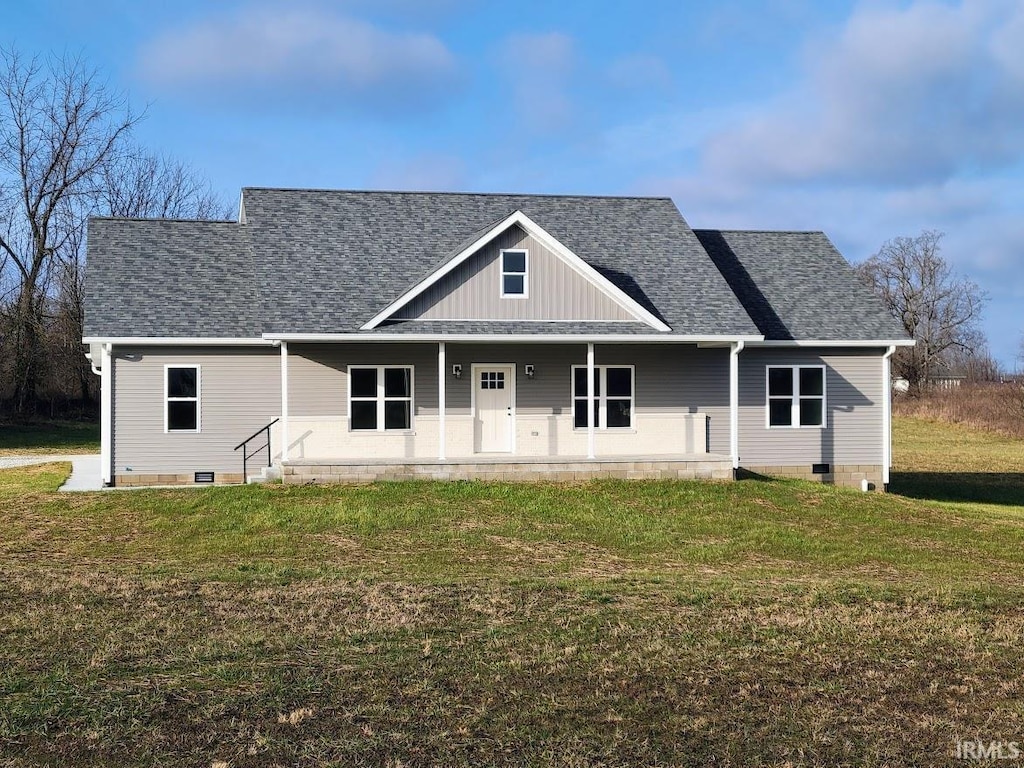
{"type": "MultiPolygon", "coordinates": [[[[390,32],[324,8],[244,8],[170,31],[140,55],[148,82],[232,100],[355,99],[402,108],[456,77],[436,37],[390,32]]],[[[421,104],[422,105],[422,104],[421,104]]]]}

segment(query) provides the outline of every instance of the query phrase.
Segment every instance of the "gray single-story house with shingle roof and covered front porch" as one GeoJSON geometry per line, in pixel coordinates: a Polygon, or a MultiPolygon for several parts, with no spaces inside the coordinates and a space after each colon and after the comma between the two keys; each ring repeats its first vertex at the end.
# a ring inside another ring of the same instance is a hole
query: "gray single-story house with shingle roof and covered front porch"
{"type": "Polygon", "coordinates": [[[821,232],[246,188],[238,221],[95,218],[88,249],[109,484],[889,478],[912,342],[821,232]]]}

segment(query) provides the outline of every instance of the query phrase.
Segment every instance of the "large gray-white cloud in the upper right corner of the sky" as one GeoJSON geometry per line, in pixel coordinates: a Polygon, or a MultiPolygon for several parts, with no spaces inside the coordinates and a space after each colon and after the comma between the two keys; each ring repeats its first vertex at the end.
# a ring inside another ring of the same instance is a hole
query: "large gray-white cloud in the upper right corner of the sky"
{"type": "Polygon", "coordinates": [[[1024,147],[1024,59],[1007,30],[1024,22],[1012,7],[858,8],[841,34],[808,47],[792,91],[709,138],[709,171],[921,183],[1015,162],[1024,147]]]}

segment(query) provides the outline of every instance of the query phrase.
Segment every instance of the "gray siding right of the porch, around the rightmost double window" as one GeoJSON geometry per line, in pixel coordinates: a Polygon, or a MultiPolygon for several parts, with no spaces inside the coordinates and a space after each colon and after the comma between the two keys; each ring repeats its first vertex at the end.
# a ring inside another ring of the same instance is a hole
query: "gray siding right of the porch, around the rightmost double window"
{"type": "Polygon", "coordinates": [[[745,349],[739,355],[739,460],[744,466],[881,464],[881,349],[745,349]],[[825,366],[825,427],[767,427],[766,370],[825,366]]]}

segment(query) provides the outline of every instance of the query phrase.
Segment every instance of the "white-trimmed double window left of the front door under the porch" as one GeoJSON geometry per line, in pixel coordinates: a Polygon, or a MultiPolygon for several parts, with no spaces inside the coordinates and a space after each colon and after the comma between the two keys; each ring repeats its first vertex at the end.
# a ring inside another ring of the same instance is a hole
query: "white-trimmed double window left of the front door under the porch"
{"type": "Polygon", "coordinates": [[[412,366],[349,366],[348,428],[352,431],[413,428],[412,366]]]}

